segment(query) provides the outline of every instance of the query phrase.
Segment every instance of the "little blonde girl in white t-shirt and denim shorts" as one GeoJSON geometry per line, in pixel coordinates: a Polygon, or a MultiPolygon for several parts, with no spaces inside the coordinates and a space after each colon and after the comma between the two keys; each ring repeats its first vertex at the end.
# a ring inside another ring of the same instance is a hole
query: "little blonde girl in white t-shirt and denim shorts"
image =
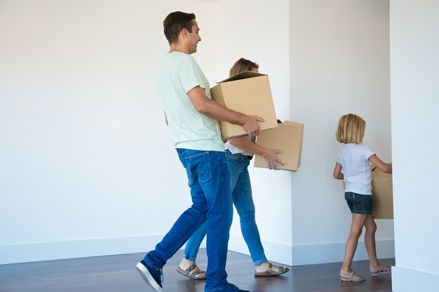
{"type": "Polygon", "coordinates": [[[342,281],[365,281],[364,277],[351,270],[353,254],[363,226],[366,228],[364,241],[370,260],[370,274],[377,276],[377,274],[391,272],[388,265],[379,263],[375,249],[377,225],[372,217],[370,162],[389,174],[392,173],[392,165],[382,162],[370,148],[363,145],[365,126],[366,122],[362,118],[349,113],[340,118],[336,133],[337,141],[343,143],[343,146],[337,153],[333,175],[335,179],[342,179],[346,183],[344,198],[352,213],[351,231],[344,249],[342,270],[340,270],[342,281]]]}

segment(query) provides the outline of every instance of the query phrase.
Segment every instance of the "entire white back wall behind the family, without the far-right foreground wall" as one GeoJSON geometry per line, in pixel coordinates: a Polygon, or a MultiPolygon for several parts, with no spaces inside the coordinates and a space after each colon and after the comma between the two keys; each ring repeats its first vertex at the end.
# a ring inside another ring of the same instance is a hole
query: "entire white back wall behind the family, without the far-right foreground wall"
{"type": "MultiPolygon", "coordinates": [[[[250,168],[267,257],[341,260],[339,116],[363,116],[365,143],[391,160],[386,3],[1,1],[0,263],[148,251],[189,207],[156,95],[176,10],[197,15],[211,85],[247,57],[269,74],[278,118],[305,124],[299,172],[250,168]]],[[[380,256],[393,256],[391,224],[379,222],[380,256]]],[[[229,246],[248,253],[237,216],[229,246]]]]}

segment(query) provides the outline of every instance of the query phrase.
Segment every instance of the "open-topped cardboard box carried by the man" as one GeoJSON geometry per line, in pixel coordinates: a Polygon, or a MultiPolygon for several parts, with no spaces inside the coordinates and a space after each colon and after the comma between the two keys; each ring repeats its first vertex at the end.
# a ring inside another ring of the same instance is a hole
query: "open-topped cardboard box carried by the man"
{"type": "MultiPolygon", "coordinates": [[[[273,97],[269,78],[265,74],[243,71],[240,74],[219,82],[210,89],[212,99],[239,113],[264,118],[259,123],[262,130],[277,127],[273,97]]],[[[240,125],[219,121],[223,140],[247,134],[240,125]]]]}

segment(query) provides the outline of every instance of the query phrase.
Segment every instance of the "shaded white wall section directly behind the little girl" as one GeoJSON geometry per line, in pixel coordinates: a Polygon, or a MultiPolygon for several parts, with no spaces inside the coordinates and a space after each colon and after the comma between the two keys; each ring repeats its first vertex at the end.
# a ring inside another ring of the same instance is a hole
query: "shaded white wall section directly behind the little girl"
{"type": "MultiPolygon", "coordinates": [[[[335,130],[340,116],[358,114],[365,145],[390,162],[389,90],[388,1],[290,1],[291,118],[305,124],[302,166],[292,174],[295,265],[342,260],[351,213],[332,178],[335,130]]],[[[377,221],[381,258],[394,255],[392,224],[377,221]]],[[[367,259],[364,244],[354,259],[367,259]]]]}

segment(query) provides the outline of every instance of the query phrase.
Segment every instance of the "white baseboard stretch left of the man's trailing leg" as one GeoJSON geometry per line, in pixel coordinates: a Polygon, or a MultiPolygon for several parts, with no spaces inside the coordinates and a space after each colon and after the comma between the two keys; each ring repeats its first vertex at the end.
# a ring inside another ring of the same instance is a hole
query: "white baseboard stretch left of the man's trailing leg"
{"type": "Polygon", "coordinates": [[[39,242],[0,246],[0,264],[141,253],[154,249],[163,235],[39,242]]]}

